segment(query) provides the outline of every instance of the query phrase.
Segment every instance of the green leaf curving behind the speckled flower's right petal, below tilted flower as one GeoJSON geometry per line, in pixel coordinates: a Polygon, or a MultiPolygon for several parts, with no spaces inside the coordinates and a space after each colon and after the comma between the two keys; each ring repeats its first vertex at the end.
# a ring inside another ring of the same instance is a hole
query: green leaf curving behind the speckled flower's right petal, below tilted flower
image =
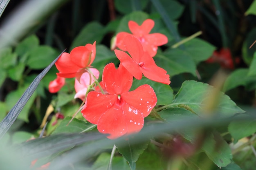
{"type": "Polygon", "coordinates": [[[135,90],[139,86],[143,84],[150,85],[157,95],[157,104],[158,105],[166,105],[171,104],[173,101],[173,90],[172,88],[167,84],[162,84],[158,82],[154,82],[146,77],[142,77],[141,80],[135,79],[132,83],[132,87],[130,91],[135,90]]]}

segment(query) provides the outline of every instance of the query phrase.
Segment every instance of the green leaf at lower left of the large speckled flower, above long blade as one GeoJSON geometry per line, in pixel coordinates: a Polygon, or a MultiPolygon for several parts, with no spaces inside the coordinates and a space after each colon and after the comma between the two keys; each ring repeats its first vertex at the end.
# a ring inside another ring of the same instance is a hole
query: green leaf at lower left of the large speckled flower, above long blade
{"type": "Polygon", "coordinates": [[[79,119],[74,118],[69,125],[68,122],[71,120],[72,117],[66,117],[63,119],[60,123],[60,125],[52,132],[52,134],[57,133],[79,133],[82,132],[85,129],[92,130],[93,127],[95,127],[94,124],[90,124],[85,121],[81,121],[79,119]]]}

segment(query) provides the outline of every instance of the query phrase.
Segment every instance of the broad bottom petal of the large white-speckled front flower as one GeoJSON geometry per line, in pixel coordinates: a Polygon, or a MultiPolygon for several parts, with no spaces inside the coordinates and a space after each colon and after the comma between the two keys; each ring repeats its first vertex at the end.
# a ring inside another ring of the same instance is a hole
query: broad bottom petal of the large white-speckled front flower
{"type": "Polygon", "coordinates": [[[144,125],[144,118],[141,113],[135,114],[132,110],[134,109],[128,104],[124,104],[122,108],[115,105],[99,118],[99,132],[110,134],[109,139],[139,132],[144,125]]]}

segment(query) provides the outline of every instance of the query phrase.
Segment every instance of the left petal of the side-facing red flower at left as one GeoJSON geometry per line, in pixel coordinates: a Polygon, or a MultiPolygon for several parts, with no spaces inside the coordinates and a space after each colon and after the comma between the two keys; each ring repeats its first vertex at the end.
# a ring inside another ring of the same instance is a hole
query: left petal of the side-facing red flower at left
{"type": "MultiPolygon", "coordinates": [[[[59,76],[62,76],[62,74],[65,76],[66,73],[75,75],[76,71],[78,71],[80,68],[78,65],[74,64],[71,61],[71,57],[69,53],[63,53],[61,57],[56,61],[55,65],[58,71],[61,72],[61,75],[59,76]]],[[[66,78],[71,78],[71,77],[66,77],[66,78]]]]}

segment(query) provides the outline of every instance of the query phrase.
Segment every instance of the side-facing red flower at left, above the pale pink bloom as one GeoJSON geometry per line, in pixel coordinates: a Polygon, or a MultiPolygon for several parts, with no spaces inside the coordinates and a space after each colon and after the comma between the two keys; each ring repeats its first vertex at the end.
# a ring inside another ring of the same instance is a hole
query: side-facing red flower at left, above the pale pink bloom
{"type": "Polygon", "coordinates": [[[85,46],[78,46],[74,48],[70,54],[63,53],[55,63],[59,71],[57,75],[65,78],[72,78],[78,77],[77,74],[81,75],[85,72],[85,68],[89,67],[95,58],[95,44],[96,42],[93,44],[86,44],[85,46]]]}

